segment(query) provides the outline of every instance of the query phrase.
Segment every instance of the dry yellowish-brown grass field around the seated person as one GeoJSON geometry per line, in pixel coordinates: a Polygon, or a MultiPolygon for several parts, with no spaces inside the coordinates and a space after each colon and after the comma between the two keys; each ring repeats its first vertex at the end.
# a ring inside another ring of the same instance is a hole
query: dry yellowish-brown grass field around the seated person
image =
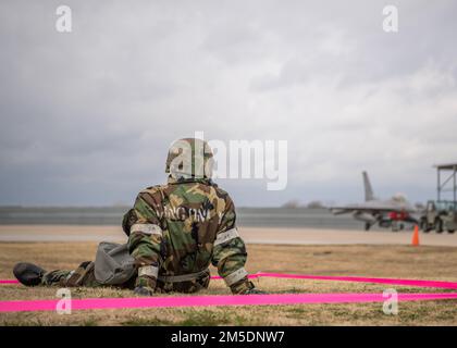
{"type": "MultiPolygon", "coordinates": [[[[97,243],[1,243],[0,277],[12,278],[18,261],[47,269],[74,269],[95,256],[97,243]]],[[[247,269],[255,272],[407,277],[457,282],[457,248],[409,246],[273,246],[248,245],[247,269]]],[[[214,270],[212,270],[214,272],[214,270]]],[[[214,272],[215,274],[215,272],[214,272]]],[[[396,288],[404,291],[445,291],[402,286],[324,281],[255,281],[270,293],[357,293],[396,288]]],[[[53,299],[55,288],[0,286],[1,300],[53,299]]],[[[227,295],[213,281],[201,295],[227,295]]],[[[173,296],[173,295],[171,295],[173,296]]],[[[132,297],[113,288],[72,289],[73,298],[132,297]]],[[[400,302],[398,315],[386,315],[382,303],[297,304],[231,308],[126,309],[0,313],[0,325],[457,325],[457,300],[400,302]]]]}

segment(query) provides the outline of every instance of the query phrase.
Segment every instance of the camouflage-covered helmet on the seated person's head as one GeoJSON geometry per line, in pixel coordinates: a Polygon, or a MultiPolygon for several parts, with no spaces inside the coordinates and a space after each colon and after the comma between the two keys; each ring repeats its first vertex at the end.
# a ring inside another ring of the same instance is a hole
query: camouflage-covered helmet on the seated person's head
{"type": "Polygon", "coordinates": [[[165,173],[175,178],[210,178],[213,153],[207,141],[197,138],[175,140],[166,157],[165,173]]]}

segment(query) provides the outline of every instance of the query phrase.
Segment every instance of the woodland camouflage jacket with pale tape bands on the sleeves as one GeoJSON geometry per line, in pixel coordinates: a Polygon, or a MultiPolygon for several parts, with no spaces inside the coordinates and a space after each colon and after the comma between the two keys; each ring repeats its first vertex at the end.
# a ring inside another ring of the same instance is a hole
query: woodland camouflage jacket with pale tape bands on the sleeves
{"type": "Polygon", "coordinates": [[[247,252],[234,203],[210,179],[170,176],[166,185],[148,187],[124,215],[123,228],[138,266],[137,286],[157,290],[166,287],[166,277],[188,274],[203,274],[209,283],[212,263],[234,294],[254,287],[244,269],[247,252]]]}

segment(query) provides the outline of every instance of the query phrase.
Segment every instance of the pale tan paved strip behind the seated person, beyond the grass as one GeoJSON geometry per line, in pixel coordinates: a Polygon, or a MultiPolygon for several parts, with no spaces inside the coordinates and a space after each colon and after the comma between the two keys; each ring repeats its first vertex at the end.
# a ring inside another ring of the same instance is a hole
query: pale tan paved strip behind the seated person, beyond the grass
{"type": "MultiPolygon", "coordinates": [[[[386,231],[239,227],[247,244],[277,245],[409,245],[411,231],[386,231]]],[[[126,236],[118,226],[100,225],[0,225],[0,241],[101,241],[124,243],[126,236]]],[[[425,246],[457,247],[457,234],[420,234],[425,246]]]]}

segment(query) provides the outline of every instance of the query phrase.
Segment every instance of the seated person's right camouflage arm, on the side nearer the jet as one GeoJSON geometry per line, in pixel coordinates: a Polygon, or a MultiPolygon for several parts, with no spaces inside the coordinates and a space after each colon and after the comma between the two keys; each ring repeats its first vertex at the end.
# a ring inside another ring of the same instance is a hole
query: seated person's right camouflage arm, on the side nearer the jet
{"type": "Polygon", "coordinates": [[[233,294],[246,294],[254,288],[245,270],[247,252],[245,243],[236,229],[235,206],[230,197],[221,217],[219,231],[213,245],[212,264],[224,278],[233,294]]]}

